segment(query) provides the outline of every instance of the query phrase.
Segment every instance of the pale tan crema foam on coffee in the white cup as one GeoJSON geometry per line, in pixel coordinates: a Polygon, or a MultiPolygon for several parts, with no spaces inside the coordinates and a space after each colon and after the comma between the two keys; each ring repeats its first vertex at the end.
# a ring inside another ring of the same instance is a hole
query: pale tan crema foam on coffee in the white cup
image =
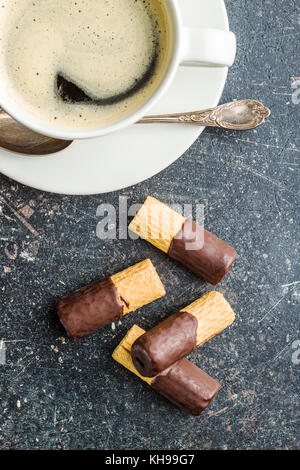
{"type": "Polygon", "coordinates": [[[163,0],[0,0],[0,30],[1,86],[24,111],[62,127],[135,111],[168,57],[163,0]],[[64,101],[58,75],[90,101],[64,101]]]}

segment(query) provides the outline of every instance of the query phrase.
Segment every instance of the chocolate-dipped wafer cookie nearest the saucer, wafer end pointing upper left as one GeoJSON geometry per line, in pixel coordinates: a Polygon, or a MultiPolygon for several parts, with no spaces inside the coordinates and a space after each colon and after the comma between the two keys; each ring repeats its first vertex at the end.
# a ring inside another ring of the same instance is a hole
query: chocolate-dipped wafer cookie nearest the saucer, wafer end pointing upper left
{"type": "Polygon", "coordinates": [[[152,197],[129,229],[213,285],[223,279],[237,256],[230,245],[152,197]]]}

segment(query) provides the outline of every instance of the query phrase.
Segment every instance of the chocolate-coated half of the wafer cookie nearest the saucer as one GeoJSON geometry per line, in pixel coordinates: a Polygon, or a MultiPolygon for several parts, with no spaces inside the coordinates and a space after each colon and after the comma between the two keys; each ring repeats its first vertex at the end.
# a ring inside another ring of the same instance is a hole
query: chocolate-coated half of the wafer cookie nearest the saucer
{"type": "Polygon", "coordinates": [[[213,285],[223,279],[237,257],[234,248],[189,219],[173,238],[168,254],[213,285]],[[196,250],[188,249],[188,244],[192,243],[203,246],[196,250]]]}

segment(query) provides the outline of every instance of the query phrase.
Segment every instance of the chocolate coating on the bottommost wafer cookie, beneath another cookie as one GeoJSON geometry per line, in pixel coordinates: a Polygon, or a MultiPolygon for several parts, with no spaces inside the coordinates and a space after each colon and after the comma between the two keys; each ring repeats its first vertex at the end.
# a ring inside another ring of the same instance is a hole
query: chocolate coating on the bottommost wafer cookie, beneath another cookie
{"type": "Polygon", "coordinates": [[[155,377],[151,386],[187,413],[200,415],[220,389],[220,384],[187,359],[155,377]]]}

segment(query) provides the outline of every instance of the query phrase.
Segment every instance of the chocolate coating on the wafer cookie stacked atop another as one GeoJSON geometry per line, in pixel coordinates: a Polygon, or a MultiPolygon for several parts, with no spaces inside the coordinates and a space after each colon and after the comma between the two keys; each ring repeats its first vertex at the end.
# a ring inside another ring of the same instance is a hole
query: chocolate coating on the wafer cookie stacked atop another
{"type": "Polygon", "coordinates": [[[178,312],[140,336],[131,348],[132,362],[144,377],[155,377],[190,354],[197,343],[196,318],[178,312]]]}

